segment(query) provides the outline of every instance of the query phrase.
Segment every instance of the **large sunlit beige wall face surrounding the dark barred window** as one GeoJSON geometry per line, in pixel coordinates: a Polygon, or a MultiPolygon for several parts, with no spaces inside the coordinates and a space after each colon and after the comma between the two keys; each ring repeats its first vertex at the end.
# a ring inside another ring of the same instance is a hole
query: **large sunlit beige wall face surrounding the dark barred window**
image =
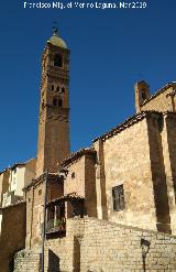
{"type": "Polygon", "coordinates": [[[146,118],[107,139],[103,155],[108,220],[156,229],[146,118]],[[125,206],[116,211],[112,187],[122,184],[125,206]]]}

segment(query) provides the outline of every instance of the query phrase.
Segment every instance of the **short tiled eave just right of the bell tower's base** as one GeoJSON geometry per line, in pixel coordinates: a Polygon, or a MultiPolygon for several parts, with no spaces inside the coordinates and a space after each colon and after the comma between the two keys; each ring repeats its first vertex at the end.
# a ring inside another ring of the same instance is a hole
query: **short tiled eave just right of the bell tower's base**
{"type": "Polygon", "coordinates": [[[63,160],[62,165],[68,165],[70,163],[73,163],[75,160],[79,159],[82,155],[94,155],[96,154],[96,150],[94,148],[88,148],[88,149],[80,149],[75,153],[72,153],[68,157],[66,157],[65,160],[63,160]]]}

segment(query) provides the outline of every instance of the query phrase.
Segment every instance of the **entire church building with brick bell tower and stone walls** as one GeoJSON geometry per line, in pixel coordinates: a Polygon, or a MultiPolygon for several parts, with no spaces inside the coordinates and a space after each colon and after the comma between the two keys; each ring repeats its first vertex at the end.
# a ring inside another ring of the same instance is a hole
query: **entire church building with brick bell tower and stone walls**
{"type": "Polygon", "coordinates": [[[69,53],[54,29],[42,55],[35,176],[21,202],[0,208],[3,225],[25,207],[23,244],[6,258],[14,272],[176,271],[176,83],[154,95],[136,83],[136,115],[70,153],[69,53]]]}

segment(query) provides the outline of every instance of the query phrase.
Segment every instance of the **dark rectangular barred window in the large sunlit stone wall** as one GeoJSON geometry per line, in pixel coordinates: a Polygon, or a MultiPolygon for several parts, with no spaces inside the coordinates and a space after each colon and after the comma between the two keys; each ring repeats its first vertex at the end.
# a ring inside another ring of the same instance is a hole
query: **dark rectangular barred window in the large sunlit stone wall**
{"type": "Polygon", "coordinates": [[[124,209],[124,192],[123,185],[119,185],[112,188],[113,210],[124,209]]]}

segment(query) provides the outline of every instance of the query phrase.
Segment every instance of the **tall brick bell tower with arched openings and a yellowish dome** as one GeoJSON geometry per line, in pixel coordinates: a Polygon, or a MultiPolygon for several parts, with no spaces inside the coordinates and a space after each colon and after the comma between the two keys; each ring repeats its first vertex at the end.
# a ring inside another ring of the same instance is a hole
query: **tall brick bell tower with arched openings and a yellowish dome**
{"type": "Polygon", "coordinates": [[[69,50],[54,28],[42,56],[36,177],[57,172],[69,154],[68,85],[69,50]]]}

